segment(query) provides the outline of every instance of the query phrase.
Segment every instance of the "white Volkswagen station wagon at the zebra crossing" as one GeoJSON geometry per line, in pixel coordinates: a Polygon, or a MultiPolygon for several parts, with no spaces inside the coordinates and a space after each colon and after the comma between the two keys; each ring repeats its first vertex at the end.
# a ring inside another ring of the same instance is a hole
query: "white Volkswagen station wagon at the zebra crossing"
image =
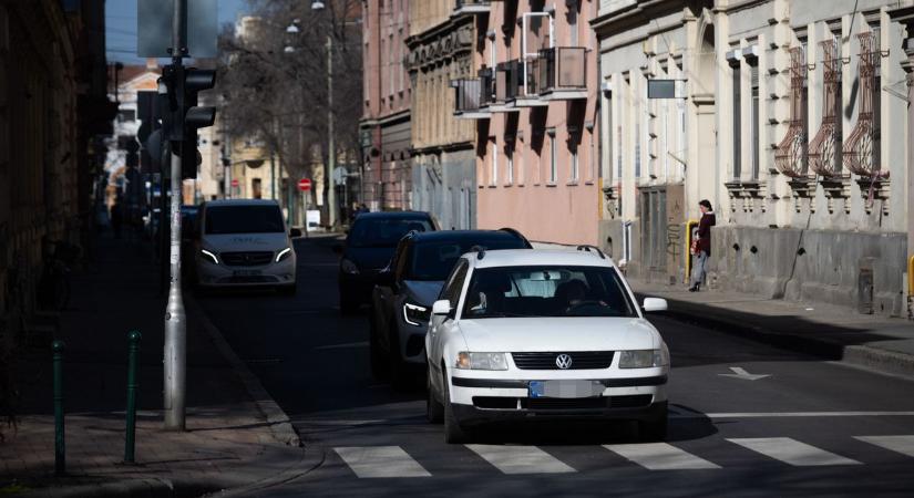
{"type": "Polygon", "coordinates": [[[501,250],[458,260],[425,336],[427,412],[445,440],[502,419],[635,419],[667,432],[669,351],[598,249],[501,250]]]}

